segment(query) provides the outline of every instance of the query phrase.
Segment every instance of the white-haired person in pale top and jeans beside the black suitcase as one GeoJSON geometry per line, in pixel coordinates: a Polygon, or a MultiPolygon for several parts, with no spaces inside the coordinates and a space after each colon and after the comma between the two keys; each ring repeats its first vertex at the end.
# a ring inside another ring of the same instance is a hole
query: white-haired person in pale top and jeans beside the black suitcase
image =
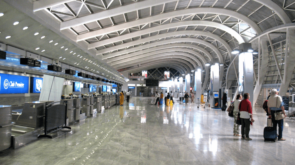
{"type": "Polygon", "coordinates": [[[271,121],[273,122],[273,127],[276,128],[278,125],[278,140],[286,140],[283,138],[283,126],[284,126],[284,119],[276,120],[275,113],[276,112],[283,112],[283,115],[287,117],[284,108],[284,102],[282,97],[278,95],[278,90],[272,89],[271,96],[268,98],[267,102],[268,107],[268,117],[271,117],[271,121]]]}

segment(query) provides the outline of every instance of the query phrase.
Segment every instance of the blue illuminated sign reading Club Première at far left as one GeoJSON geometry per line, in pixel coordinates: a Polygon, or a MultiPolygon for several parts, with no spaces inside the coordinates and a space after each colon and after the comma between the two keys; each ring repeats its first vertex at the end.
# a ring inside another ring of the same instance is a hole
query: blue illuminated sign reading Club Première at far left
{"type": "Polygon", "coordinates": [[[29,93],[29,77],[0,73],[0,93],[29,93]]]}

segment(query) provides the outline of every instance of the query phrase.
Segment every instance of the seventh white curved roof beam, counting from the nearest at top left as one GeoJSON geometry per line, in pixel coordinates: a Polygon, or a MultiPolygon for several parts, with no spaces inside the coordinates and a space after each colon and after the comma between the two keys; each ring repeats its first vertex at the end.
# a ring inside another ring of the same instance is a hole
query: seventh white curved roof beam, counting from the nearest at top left
{"type": "MultiPolygon", "coordinates": [[[[138,47],[140,47],[140,46],[137,46],[135,48],[138,48],[138,47]]],[[[141,54],[157,51],[157,50],[163,50],[163,49],[169,49],[169,48],[179,48],[179,47],[180,48],[193,48],[193,49],[200,50],[204,54],[206,54],[210,60],[213,59],[212,55],[206,49],[204,49],[200,46],[196,46],[196,45],[192,45],[192,44],[188,44],[188,43],[172,43],[172,44],[161,45],[161,46],[156,46],[156,47],[152,47],[152,48],[146,48],[145,50],[140,50],[140,51],[136,51],[133,53],[128,53],[128,54],[120,55],[120,56],[117,56],[114,58],[110,58],[110,59],[107,59],[107,63],[114,62],[117,60],[122,60],[122,59],[128,58],[128,57],[133,57],[136,55],[141,55],[141,54]]],[[[203,63],[206,63],[206,62],[207,62],[206,60],[203,61],[203,63]]]]}

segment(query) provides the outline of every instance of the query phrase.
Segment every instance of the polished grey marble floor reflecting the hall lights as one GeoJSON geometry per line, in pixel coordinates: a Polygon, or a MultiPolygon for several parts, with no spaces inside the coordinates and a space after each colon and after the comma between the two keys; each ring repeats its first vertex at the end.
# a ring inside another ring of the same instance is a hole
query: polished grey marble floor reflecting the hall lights
{"type": "MultiPolygon", "coordinates": [[[[264,142],[266,114],[253,110],[251,141],[233,136],[233,118],[221,109],[194,103],[150,105],[153,98],[132,97],[70,125],[55,139],[42,138],[0,153],[2,165],[269,165],[295,164],[295,122],[285,119],[286,141],[264,142]]],[[[177,99],[175,99],[177,100],[177,99]]]]}

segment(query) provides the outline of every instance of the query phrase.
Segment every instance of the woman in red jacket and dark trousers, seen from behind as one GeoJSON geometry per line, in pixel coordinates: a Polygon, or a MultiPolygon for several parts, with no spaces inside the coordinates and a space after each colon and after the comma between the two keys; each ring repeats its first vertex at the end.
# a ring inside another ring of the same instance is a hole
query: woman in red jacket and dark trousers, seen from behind
{"type": "Polygon", "coordinates": [[[251,102],[249,101],[250,95],[249,93],[244,94],[244,100],[240,102],[239,110],[240,110],[240,118],[241,118],[241,134],[242,140],[252,140],[249,137],[250,132],[250,124],[251,122],[254,122],[253,116],[252,116],[252,106],[251,102]]]}

